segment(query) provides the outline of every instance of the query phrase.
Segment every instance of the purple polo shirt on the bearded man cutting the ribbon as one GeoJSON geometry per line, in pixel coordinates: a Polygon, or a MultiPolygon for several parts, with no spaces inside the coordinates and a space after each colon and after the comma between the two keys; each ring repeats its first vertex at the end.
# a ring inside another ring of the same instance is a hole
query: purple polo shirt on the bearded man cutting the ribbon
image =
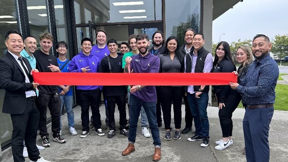
{"type": "MultiPolygon", "coordinates": [[[[131,70],[133,73],[158,73],[160,67],[160,59],[157,56],[151,55],[149,52],[147,55],[142,57],[141,54],[131,56],[131,70]]],[[[140,101],[144,102],[156,102],[157,95],[155,86],[146,86],[140,91],[131,93],[135,95],[140,101]]]]}

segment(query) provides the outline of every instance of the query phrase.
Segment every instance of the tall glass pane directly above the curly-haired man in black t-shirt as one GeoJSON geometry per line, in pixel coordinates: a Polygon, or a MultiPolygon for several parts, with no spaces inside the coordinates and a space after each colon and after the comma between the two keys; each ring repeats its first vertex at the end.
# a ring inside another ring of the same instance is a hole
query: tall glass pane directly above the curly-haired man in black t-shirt
{"type": "MultiPolygon", "coordinates": [[[[57,8],[57,6],[55,6],[55,8],[57,8]]],[[[39,35],[51,31],[47,17],[49,14],[46,0],[29,0],[27,1],[27,9],[30,35],[34,36],[37,40],[37,43],[39,43],[39,35]]],[[[40,47],[40,45],[38,44],[37,47],[40,47]]]]}

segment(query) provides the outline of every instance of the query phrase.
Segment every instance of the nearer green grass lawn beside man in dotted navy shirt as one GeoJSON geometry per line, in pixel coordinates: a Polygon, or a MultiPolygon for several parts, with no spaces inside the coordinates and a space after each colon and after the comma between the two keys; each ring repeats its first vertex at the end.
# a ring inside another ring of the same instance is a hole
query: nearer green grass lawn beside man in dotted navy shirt
{"type": "MultiPolygon", "coordinates": [[[[276,99],[274,109],[288,111],[288,85],[277,84],[275,92],[276,99]]],[[[243,108],[241,102],[239,103],[238,108],[243,108]]]]}

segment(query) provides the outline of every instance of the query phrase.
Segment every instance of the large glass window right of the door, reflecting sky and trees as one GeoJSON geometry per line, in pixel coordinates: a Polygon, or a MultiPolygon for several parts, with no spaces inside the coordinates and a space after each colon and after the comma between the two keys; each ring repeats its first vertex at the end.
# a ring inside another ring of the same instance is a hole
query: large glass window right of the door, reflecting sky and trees
{"type": "Polygon", "coordinates": [[[184,31],[200,32],[200,0],[165,0],[166,38],[176,36],[182,46],[184,31]]]}

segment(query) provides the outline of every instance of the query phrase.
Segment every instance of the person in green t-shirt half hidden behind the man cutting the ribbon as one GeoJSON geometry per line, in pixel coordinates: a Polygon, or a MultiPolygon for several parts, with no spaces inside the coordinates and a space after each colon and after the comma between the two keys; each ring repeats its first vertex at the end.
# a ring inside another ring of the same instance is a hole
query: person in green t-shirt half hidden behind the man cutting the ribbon
{"type": "MultiPolygon", "coordinates": [[[[131,57],[132,55],[139,54],[136,38],[137,38],[136,34],[132,34],[129,37],[128,43],[129,43],[130,47],[132,48],[132,51],[131,52],[127,52],[123,56],[122,68],[124,68],[125,65],[126,65],[126,58],[127,57],[131,57]]],[[[128,92],[127,92],[128,111],[130,112],[130,94],[131,94],[130,93],[130,86],[128,86],[127,89],[128,89],[128,92]]],[[[130,113],[129,113],[129,115],[130,115],[130,113]]],[[[149,132],[149,129],[147,128],[148,127],[148,119],[147,119],[147,115],[146,115],[146,112],[145,112],[143,107],[141,107],[141,127],[142,127],[142,134],[144,135],[144,137],[149,138],[150,137],[150,132],[149,132]]]]}

